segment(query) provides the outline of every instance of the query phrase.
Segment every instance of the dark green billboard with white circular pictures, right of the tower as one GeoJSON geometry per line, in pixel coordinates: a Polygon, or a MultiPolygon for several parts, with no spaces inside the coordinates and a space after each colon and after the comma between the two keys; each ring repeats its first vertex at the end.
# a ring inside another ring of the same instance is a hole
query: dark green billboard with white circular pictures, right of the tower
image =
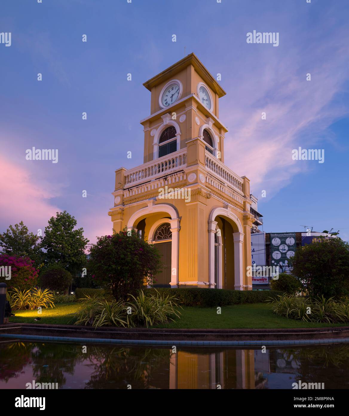
{"type": "Polygon", "coordinates": [[[296,233],[270,233],[271,265],[279,266],[280,273],[289,273],[290,258],[296,251],[296,233]]]}

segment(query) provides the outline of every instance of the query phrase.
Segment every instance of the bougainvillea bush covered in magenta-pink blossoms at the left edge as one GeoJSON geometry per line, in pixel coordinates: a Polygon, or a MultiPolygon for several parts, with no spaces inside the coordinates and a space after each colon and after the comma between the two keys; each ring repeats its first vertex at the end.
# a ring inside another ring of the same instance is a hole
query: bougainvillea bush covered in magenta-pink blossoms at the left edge
{"type": "MultiPolygon", "coordinates": [[[[1,277],[1,281],[5,282],[9,289],[16,287],[20,290],[26,290],[37,285],[39,270],[34,267],[34,261],[30,260],[29,257],[1,254],[0,266],[11,267],[11,279],[5,280],[4,276],[1,277]]],[[[9,270],[9,268],[6,270],[9,270]]]]}

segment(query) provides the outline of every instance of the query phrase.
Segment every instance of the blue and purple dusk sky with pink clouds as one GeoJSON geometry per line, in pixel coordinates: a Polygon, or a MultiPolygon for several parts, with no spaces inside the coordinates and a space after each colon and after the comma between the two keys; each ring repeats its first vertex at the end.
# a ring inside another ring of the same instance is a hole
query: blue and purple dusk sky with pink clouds
{"type": "Polygon", "coordinates": [[[112,233],[114,172],[143,163],[142,84],[185,46],[221,74],[225,163],[251,180],[263,230],[349,240],[348,17],[347,0],[3,1],[0,232],[21,220],[44,231],[67,210],[91,243],[112,233]],[[278,32],[279,45],[247,43],[253,30],[278,32]],[[33,146],[58,149],[58,163],[26,160],[33,146]],[[299,147],[322,149],[324,163],[292,160],[299,147]]]}

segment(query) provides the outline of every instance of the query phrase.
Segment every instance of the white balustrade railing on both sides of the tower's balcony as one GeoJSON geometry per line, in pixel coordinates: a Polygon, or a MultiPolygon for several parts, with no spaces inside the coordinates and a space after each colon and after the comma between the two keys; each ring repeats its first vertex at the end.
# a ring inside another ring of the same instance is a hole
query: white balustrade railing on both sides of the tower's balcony
{"type": "MultiPolygon", "coordinates": [[[[142,183],[159,179],[177,171],[183,170],[187,166],[187,148],[178,150],[167,156],[144,163],[132,169],[125,171],[124,189],[133,186],[139,186],[142,183]]],[[[225,183],[238,194],[243,195],[243,179],[231,171],[219,159],[205,151],[205,167],[206,170],[219,181],[225,183]]]]}

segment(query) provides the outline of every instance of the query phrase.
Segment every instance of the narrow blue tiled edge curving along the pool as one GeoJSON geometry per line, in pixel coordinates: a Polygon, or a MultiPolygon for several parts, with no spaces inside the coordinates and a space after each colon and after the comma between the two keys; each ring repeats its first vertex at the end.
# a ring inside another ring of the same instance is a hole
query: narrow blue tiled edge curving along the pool
{"type": "Polygon", "coordinates": [[[77,343],[103,343],[128,345],[184,346],[184,347],[261,347],[261,346],[293,346],[349,343],[349,338],[269,340],[269,341],[158,341],[150,339],[108,339],[108,338],[77,338],[77,337],[44,337],[42,335],[0,334],[0,338],[16,338],[31,341],[58,341],[77,343]]]}

